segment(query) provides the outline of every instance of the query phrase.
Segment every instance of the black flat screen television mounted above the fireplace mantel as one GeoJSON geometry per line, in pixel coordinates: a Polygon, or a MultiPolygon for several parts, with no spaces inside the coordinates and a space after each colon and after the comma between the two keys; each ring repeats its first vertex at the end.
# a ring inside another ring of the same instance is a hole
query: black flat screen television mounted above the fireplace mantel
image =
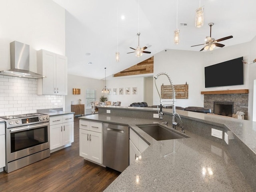
{"type": "Polygon", "coordinates": [[[204,68],[205,87],[220,87],[244,84],[243,57],[207,66],[204,68]]]}

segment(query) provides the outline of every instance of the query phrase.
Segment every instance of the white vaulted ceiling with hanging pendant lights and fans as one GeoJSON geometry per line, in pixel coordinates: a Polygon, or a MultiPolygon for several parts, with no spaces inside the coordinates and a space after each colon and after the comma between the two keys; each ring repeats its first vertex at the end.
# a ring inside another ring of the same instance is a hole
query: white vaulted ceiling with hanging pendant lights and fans
{"type": "MultiPolygon", "coordinates": [[[[208,23],[213,22],[212,38],[226,46],[250,42],[256,36],[255,0],[54,0],[66,9],[66,56],[68,74],[102,79],[116,74],[164,49],[199,51],[208,23]],[[204,6],[204,26],[196,28],[195,10],[204,6]],[[123,17],[123,18],[122,18],[123,17]],[[173,43],[173,32],[180,29],[180,43],[173,43]],[[187,23],[181,26],[180,23],[187,23]],[[136,58],[129,47],[147,46],[136,58]],[[120,62],[115,52],[120,52],[120,62]]],[[[225,47],[224,47],[225,48],[225,47]]],[[[222,48],[222,49],[224,49],[222,48]]],[[[221,49],[221,48],[216,48],[221,49]]]]}

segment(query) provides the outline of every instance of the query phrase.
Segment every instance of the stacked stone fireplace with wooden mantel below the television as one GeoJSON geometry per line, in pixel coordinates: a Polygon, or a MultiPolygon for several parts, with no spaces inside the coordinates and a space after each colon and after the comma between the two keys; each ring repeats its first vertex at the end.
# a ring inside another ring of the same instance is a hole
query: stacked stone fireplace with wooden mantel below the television
{"type": "Polygon", "coordinates": [[[242,111],[244,119],[248,119],[248,89],[203,91],[201,94],[204,94],[204,108],[210,108],[214,114],[232,117],[232,114],[242,111]]]}

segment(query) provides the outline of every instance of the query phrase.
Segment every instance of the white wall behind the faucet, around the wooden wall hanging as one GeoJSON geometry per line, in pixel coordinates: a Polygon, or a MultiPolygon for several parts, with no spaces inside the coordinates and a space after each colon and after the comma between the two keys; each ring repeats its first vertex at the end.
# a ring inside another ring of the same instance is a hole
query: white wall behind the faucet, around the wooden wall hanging
{"type": "MultiPolygon", "coordinates": [[[[172,84],[188,84],[188,99],[176,99],[176,106],[204,106],[204,98],[200,95],[204,85],[204,68],[201,52],[182,50],[163,50],[154,55],[154,76],[160,72],[169,74],[172,84]]],[[[161,85],[170,85],[168,78],[161,75],[156,85],[161,94],[161,85]]],[[[154,85],[154,105],[160,104],[160,98],[154,85]]],[[[166,100],[166,99],[165,99],[166,100]]],[[[164,102],[163,104],[169,104],[164,102]]]]}

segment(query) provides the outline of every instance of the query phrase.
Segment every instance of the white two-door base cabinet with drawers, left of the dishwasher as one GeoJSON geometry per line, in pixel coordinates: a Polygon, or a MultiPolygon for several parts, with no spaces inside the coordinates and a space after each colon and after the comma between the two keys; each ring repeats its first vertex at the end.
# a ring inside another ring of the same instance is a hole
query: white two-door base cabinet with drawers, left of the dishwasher
{"type": "Polygon", "coordinates": [[[102,164],[102,123],[79,120],[79,154],[102,164]]]}

